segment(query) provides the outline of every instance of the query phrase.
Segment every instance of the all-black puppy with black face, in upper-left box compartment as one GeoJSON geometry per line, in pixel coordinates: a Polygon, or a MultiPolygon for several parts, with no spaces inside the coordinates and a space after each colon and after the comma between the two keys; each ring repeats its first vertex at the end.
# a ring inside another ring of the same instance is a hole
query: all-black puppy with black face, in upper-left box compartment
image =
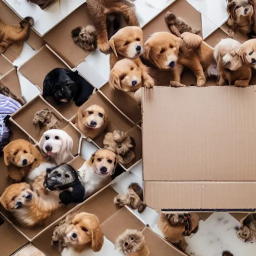
{"type": "Polygon", "coordinates": [[[54,68],[44,78],[42,96],[52,96],[56,104],[65,104],[73,100],[82,105],[93,91],[91,86],[77,71],[54,68]]]}

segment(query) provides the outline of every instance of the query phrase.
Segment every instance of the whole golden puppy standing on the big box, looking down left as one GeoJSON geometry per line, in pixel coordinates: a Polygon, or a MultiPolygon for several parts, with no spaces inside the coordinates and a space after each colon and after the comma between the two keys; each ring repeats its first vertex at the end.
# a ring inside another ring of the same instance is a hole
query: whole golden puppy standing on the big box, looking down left
{"type": "Polygon", "coordinates": [[[158,69],[170,70],[170,85],[174,87],[185,86],[180,83],[184,66],[194,72],[196,86],[204,85],[204,72],[207,76],[217,75],[213,48],[193,33],[184,32],[177,37],[169,32],[155,32],[146,40],[143,56],[158,69]]]}

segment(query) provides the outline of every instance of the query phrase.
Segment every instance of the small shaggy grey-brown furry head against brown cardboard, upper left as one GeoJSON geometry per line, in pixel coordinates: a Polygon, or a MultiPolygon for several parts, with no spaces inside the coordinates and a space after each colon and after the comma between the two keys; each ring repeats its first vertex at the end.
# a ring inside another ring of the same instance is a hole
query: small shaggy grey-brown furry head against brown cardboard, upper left
{"type": "Polygon", "coordinates": [[[93,25],[77,26],[71,31],[74,43],[84,50],[94,50],[97,47],[97,32],[93,25]]]}

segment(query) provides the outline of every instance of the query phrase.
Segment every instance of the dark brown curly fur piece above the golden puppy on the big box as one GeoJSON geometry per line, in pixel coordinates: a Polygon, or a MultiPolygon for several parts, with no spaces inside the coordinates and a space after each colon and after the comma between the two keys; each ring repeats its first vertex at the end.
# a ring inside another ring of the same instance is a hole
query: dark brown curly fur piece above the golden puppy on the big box
{"type": "Polygon", "coordinates": [[[202,37],[202,32],[200,30],[193,29],[191,26],[186,24],[184,21],[177,18],[176,15],[174,14],[174,12],[172,12],[172,11],[167,11],[164,19],[165,19],[165,22],[166,22],[167,26],[169,27],[171,33],[173,33],[177,37],[180,37],[180,35],[183,32],[194,33],[194,34],[197,34],[202,37]]]}

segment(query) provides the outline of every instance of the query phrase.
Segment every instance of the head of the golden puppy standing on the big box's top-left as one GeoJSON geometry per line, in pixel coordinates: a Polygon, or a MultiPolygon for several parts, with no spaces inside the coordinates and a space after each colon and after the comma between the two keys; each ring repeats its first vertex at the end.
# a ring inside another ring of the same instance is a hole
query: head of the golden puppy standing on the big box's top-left
{"type": "Polygon", "coordinates": [[[153,33],[144,44],[144,57],[159,69],[173,68],[178,60],[182,39],[168,32],[153,33]]]}

